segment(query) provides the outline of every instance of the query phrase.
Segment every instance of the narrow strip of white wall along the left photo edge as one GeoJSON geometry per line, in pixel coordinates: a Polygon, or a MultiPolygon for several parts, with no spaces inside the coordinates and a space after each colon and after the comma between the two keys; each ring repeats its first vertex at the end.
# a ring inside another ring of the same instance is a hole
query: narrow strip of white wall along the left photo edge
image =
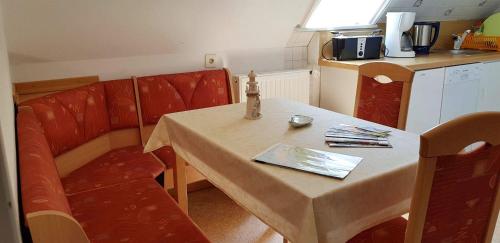
{"type": "Polygon", "coordinates": [[[0,241],[20,242],[14,105],[0,5],[0,241]]]}

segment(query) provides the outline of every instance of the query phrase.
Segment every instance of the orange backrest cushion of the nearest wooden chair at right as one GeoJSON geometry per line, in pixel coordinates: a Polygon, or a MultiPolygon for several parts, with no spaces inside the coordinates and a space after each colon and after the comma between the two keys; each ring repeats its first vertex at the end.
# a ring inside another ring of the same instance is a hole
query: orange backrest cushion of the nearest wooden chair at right
{"type": "Polygon", "coordinates": [[[484,242],[499,172],[500,145],[438,157],[422,242],[484,242]]]}

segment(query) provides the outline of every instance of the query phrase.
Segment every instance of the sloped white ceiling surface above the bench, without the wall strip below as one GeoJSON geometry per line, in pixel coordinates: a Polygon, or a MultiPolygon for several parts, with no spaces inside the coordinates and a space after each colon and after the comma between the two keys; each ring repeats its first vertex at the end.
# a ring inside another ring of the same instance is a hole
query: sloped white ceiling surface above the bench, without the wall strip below
{"type": "Polygon", "coordinates": [[[283,48],[313,3],[313,0],[2,1],[9,54],[14,62],[283,48]]]}

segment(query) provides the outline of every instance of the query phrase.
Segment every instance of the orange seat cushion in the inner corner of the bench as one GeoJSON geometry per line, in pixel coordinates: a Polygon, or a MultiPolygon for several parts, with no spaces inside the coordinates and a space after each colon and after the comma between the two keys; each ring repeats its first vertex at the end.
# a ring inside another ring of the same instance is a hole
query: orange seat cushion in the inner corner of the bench
{"type": "Polygon", "coordinates": [[[111,150],[62,178],[66,194],[95,190],[138,178],[155,178],[164,165],[143,147],[129,146],[111,150]]]}

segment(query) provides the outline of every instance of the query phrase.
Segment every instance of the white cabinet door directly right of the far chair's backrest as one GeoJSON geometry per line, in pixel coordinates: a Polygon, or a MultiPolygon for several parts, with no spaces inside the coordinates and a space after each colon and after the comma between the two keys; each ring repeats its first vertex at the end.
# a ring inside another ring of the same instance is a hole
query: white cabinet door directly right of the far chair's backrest
{"type": "Polygon", "coordinates": [[[445,69],[417,71],[413,78],[406,131],[422,134],[439,125],[445,69]]]}

